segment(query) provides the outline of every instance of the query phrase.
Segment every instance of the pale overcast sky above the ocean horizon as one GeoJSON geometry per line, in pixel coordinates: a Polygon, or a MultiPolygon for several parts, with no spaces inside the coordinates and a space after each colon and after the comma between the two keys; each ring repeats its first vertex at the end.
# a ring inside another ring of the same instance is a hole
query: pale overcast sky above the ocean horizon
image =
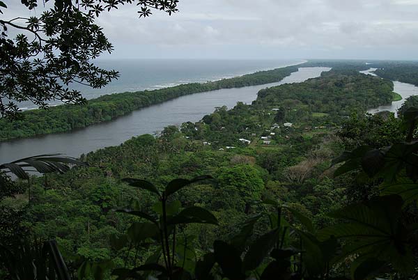
{"type": "Polygon", "coordinates": [[[135,8],[100,15],[115,47],[103,58],[418,59],[418,0],[180,0],[145,19],[135,8]]]}

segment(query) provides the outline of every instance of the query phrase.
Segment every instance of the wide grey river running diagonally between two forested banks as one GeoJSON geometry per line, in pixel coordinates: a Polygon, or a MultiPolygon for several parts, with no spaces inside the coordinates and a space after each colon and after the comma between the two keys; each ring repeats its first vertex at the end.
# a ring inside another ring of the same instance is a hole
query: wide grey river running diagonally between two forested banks
{"type": "Polygon", "coordinates": [[[256,100],[257,93],[262,88],[302,82],[319,77],[323,71],[328,70],[330,68],[299,68],[298,72],[276,83],[185,95],[80,130],[3,142],[0,143],[0,162],[47,153],[79,157],[82,153],[119,145],[137,135],[155,134],[168,125],[199,121],[203,116],[212,113],[215,107],[225,105],[232,108],[238,101],[250,104],[256,100]]]}

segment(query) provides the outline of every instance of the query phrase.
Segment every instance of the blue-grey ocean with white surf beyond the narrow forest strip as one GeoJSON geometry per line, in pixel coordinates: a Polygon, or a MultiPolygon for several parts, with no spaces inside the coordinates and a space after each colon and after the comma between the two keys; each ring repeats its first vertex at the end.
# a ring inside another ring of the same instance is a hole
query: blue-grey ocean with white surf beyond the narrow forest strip
{"type": "MultiPolygon", "coordinates": [[[[193,82],[215,81],[236,77],[261,70],[271,70],[288,65],[303,63],[304,60],[98,60],[95,64],[106,70],[116,70],[120,77],[104,88],[91,88],[72,84],[70,88],[82,92],[84,98],[98,98],[110,93],[144,91],[176,86],[193,82]]],[[[51,105],[60,104],[52,100],[51,105]]],[[[22,110],[35,109],[31,102],[21,102],[22,110]]]]}

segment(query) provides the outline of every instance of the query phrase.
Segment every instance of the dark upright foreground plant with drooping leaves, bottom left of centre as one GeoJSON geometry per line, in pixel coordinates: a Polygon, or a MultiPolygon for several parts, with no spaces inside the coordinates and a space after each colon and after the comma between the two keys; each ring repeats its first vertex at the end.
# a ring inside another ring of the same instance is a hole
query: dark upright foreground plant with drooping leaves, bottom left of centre
{"type": "MultiPolygon", "coordinates": [[[[187,247],[187,238],[183,240],[183,243],[176,243],[178,242],[178,240],[176,240],[176,231],[179,231],[178,234],[180,234],[182,230],[181,226],[187,224],[197,223],[216,225],[218,224],[218,221],[215,216],[204,208],[191,206],[180,210],[180,201],[169,201],[169,199],[173,194],[180,189],[183,189],[183,187],[210,178],[210,176],[200,176],[192,180],[174,179],[167,184],[163,192],[160,192],[155,185],[146,180],[124,179],[124,181],[132,187],[145,189],[158,197],[158,202],[153,207],[157,215],[150,215],[139,209],[117,211],[146,220],[145,223],[134,222],[134,224],[128,228],[124,240],[126,240],[126,242],[127,240],[130,240],[136,244],[141,244],[141,242],[144,242],[147,239],[153,239],[158,242],[160,249],[158,249],[155,256],[152,256],[151,259],[147,260],[146,265],[134,267],[131,270],[119,268],[114,270],[112,274],[118,276],[118,279],[141,277],[140,275],[142,272],[146,271],[158,272],[157,275],[159,278],[168,277],[169,279],[183,279],[183,277],[186,277],[185,261],[189,250],[187,247]],[[180,247],[180,251],[183,251],[183,258],[180,258],[180,256],[177,255],[178,247],[180,247]],[[159,264],[161,254],[164,259],[164,266],[159,264]],[[181,263],[183,263],[183,265],[180,266],[181,263]]],[[[119,240],[121,240],[121,238],[118,238],[118,241],[119,240]]]]}

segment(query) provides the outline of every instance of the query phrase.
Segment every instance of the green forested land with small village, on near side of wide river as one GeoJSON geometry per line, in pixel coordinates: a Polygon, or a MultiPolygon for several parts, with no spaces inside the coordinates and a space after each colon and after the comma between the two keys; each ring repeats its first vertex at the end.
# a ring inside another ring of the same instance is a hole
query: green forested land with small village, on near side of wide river
{"type": "Polygon", "coordinates": [[[417,116],[364,114],[392,91],[332,70],[82,155],[2,194],[1,241],[54,238],[79,279],[416,279],[417,116]]]}

